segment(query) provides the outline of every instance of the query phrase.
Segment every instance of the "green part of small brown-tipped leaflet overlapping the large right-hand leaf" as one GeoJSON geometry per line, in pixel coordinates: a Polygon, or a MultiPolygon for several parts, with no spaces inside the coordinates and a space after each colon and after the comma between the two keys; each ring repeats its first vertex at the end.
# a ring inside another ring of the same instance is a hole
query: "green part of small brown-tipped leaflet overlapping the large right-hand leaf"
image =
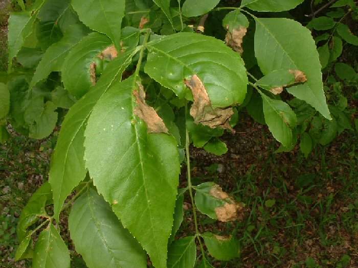
{"type": "Polygon", "coordinates": [[[266,90],[275,87],[291,85],[295,82],[295,75],[289,70],[273,70],[269,74],[260,78],[255,84],[266,90]]]}

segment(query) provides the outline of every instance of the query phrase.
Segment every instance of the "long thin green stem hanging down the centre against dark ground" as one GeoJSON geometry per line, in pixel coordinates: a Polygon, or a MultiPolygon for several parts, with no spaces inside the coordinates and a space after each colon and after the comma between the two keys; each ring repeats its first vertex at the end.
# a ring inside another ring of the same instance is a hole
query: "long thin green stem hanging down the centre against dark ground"
{"type": "MultiPolygon", "coordinates": [[[[185,118],[187,117],[188,114],[188,102],[185,102],[185,118]]],[[[186,155],[186,162],[187,162],[187,179],[188,179],[188,189],[189,189],[189,194],[190,194],[190,200],[191,200],[191,206],[193,209],[193,217],[194,217],[194,224],[195,224],[195,233],[196,233],[196,237],[197,240],[199,241],[199,245],[200,245],[200,249],[202,251],[202,254],[204,256],[205,251],[204,251],[204,247],[202,245],[202,241],[200,240],[200,232],[198,230],[198,224],[197,224],[197,218],[196,218],[196,207],[195,207],[195,203],[194,203],[194,197],[193,197],[193,185],[191,184],[191,174],[190,174],[190,151],[189,151],[189,131],[187,126],[185,126],[185,155],[186,155]]]]}

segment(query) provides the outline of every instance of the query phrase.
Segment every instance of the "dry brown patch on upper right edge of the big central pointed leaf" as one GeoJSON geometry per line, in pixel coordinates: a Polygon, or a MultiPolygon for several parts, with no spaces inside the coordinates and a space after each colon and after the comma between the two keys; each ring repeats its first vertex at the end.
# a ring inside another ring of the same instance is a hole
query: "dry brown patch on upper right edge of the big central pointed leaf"
{"type": "Polygon", "coordinates": [[[145,121],[147,132],[168,134],[168,129],[164,125],[162,118],[159,117],[153,107],[145,103],[145,92],[142,84],[138,83],[138,90],[133,90],[133,95],[136,97],[137,103],[134,113],[145,121]]]}

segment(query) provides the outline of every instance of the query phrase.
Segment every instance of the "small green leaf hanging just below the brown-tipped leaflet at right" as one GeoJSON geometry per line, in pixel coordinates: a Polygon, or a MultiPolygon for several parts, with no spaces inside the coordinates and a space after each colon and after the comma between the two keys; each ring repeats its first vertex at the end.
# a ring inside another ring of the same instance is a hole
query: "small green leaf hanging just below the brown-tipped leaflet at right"
{"type": "Polygon", "coordinates": [[[297,126],[297,117],[287,103],[273,100],[261,93],[265,121],[272,135],[284,147],[292,144],[292,130],[297,126]]]}

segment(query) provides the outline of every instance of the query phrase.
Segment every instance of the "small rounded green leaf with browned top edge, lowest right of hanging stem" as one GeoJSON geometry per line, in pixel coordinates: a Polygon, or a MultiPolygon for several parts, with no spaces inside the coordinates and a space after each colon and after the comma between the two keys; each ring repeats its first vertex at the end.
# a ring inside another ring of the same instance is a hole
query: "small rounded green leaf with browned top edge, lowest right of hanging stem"
{"type": "Polygon", "coordinates": [[[240,255],[240,243],[235,237],[219,236],[206,232],[202,234],[211,256],[218,260],[231,260],[240,255]]]}

